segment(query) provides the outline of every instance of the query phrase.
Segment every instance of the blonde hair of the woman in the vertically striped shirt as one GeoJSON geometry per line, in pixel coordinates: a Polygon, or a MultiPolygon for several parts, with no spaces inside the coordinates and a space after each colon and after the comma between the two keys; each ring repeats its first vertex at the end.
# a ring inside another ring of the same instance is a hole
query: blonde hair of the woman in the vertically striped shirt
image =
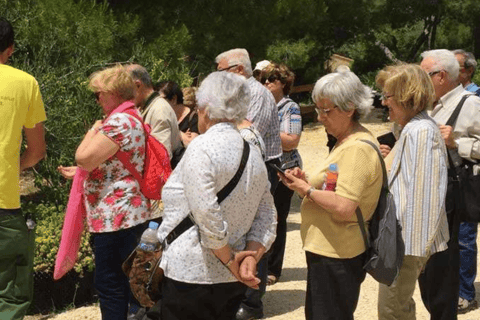
{"type": "Polygon", "coordinates": [[[397,64],[383,68],[377,85],[406,109],[419,113],[433,105],[435,89],[430,76],[416,64],[397,64]]]}

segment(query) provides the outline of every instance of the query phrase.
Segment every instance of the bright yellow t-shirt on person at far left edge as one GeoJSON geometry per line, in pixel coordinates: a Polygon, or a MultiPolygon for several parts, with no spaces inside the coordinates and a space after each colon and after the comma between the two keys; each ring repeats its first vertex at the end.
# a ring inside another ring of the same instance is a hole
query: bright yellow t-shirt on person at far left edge
{"type": "Polygon", "coordinates": [[[22,129],[45,121],[45,109],[34,77],[0,64],[0,208],[20,208],[22,129]]]}

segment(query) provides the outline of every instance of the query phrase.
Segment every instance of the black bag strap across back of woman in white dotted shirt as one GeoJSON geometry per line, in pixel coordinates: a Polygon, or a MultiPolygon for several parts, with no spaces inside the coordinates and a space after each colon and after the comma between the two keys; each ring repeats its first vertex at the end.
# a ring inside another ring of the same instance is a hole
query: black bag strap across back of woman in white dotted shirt
{"type": "MultiPolygon", "coordinates": [[[[242,139],[243,140],[243,139],[242,139]]],[[[240,181],[240,178],[243,175],[243,171],[245,170],[245,166],[248,161],[248,156],[250,154],[250,145],[248,144],[247,141],[243,140],[243,154],[242,154],[242,159],[240,160],[240,166],[238,167],[237,172],[233,176],[233,178],[227,183],[226,186],[222,188],[217,193],[217,202],[220,204],[223,200],[225,200],[226,197],[235,189],[237,186],[238,182],[240,181]]],[[[182,233],[190,229],[192,226],[194,226],[193,219],[191,218],[191,215],[189,214],[185,219],[178,224],[175,229],[173,229],[168,236],[165,238],[165,242],[167,244],[171,244],[175,239],[177,239],[182,233]]]]}

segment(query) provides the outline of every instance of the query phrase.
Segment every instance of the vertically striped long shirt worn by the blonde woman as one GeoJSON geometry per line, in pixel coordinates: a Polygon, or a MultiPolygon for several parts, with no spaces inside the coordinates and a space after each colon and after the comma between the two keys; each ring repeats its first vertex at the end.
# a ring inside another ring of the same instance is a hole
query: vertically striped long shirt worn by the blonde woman
{"type": "Polygon", "coordinates": [[[389,187],[402,226],[405,255],[429,257],[447,249],[447,151],[435,121],[421,112],[393,149],[389,187]]]}

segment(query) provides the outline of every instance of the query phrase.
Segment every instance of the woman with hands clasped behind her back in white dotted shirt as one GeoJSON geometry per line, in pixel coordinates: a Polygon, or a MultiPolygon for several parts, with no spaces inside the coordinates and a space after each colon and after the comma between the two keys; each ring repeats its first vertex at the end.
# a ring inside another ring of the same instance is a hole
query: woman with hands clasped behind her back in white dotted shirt
{"type": "Polygon", "coordinates": [[[237,185],[219,203],[218,192],[240,166],[244,140],[236,125],[247,114],[245,78],[214,72],[198,93],[198,128],[163,187],[158,231],[167,237],[189,214],[193,226],[164,250],[163,320],[235,317],[247,286],[258,288],[256,263],[275,239],[276,211],[260,150],[251,146],[237,185]]]}

